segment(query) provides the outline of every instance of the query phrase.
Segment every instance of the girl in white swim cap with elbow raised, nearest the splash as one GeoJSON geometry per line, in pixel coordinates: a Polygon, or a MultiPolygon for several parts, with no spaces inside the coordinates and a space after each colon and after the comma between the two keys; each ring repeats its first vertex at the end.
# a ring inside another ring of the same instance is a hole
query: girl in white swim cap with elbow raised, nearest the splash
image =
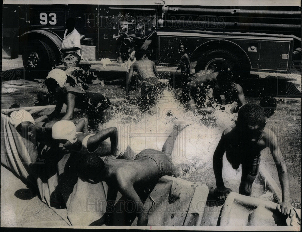
{"type": "Polygon", "coordinates": [[[63,153],[76,151],[82,154],[94,153],[100,156],[116,155],[117,129],[110,127],[96,134],[77,132],[76,126],[66,120],[56,122],[52,129],[54,144],[63,153]],[[111,145],[104,140],[110,138],[111,145]]]}

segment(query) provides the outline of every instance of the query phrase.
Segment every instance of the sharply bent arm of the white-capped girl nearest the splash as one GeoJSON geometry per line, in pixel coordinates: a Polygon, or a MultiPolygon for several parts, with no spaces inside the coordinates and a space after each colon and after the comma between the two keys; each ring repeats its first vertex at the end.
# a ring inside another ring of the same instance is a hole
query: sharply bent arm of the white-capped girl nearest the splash
{"type": "Polygon", "coordinates": [[[111,154],[115,155],[117,151],[117,128],[116,127],[110,127],[104,130],[101,130],[100,132],[96,133],[95,135],[92,135],[88,138],[87,141],[87,149],[88,151],[95,151],[98,146],[101,144],[102,141],[104,141],[107,138],[110,138],[111,143],[111,154]]]}

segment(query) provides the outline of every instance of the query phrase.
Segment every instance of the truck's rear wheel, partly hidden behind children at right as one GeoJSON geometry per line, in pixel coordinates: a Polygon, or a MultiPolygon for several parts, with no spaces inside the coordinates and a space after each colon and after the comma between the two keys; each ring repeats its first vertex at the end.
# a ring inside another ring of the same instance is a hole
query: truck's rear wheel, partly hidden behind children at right
{"type": "Polygon", "coordinates": [[[227,64],[235,72],[235,78],[240,80],[246,75],[245,73],[249,73],[249,67],[242,62],[243,60],[243,57],[239,57],[229,50],[211,49],[204,52],[198,59],[195,72],[208,70],[212,65],[216,67],[216,71],[219,71],[227,64]]]}

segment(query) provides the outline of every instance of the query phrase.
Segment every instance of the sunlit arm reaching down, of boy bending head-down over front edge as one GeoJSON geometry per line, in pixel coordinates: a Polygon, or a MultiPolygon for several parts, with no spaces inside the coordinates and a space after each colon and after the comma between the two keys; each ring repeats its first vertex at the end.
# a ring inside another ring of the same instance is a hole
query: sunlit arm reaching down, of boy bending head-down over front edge
{"type": "Polygon", "coordinates": [[[135,212],[137,212],[137,225],[146,226],[148,224],[148,212],[145,210],[143,202],[141,201],[139,195],[133,188],[133,183],[130,180],[125,180],[128,170],[120,170],[117,174],[117,182],[119,186],[120,193],[127,199],[133,202],[135,206],[135,212]]]}

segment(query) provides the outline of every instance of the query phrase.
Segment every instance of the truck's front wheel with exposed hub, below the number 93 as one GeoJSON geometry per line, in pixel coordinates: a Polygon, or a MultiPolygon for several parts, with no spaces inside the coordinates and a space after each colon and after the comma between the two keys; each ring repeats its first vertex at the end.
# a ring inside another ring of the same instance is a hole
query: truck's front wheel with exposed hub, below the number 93
{"type": "Polygon", "coordinates": [[[43,40],[30,40],[22,53],[23,66],[30,79],[44,79],[54,68],[56,56],[43,40]]]}

